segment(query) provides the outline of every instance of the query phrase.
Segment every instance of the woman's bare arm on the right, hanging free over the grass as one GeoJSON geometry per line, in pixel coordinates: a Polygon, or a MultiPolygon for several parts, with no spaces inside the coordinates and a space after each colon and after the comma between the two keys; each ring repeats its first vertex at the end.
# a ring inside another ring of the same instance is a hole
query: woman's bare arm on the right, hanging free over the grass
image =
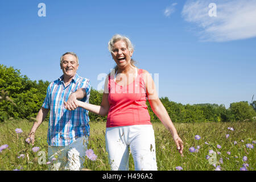
{"type": "Polygon", "coordinates": [[[163,123],[166,129],[170,131],[172,138],[174,139],[174,142],[176,144],[177,150],[179,150],[180,154],[183,154],[183,142],[180,139],[179,135],[177,134],[177,130],[175,129],[175,126],[172,123],[166,108],[164,107],[164,105],[162,104],[158,97],[154,80],[147,71],[144,71],[144,82],[146,84],[147,97],[152,111],[160,119],[160,121],[163,123]]]}

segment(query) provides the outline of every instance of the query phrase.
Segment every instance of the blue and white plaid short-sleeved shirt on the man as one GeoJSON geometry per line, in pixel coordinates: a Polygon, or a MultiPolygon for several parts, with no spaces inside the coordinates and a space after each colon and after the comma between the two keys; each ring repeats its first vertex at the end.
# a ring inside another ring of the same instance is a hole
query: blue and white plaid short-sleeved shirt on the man
{"type": "Polygon", "coordinates": [[[69,111],[65,109],[64,101],[72,92],[84,88],[86,97],[81,101],[89,103],[90,80],[76,75],[69,85],[65,86],[63,76],[51,82],[47,88],[46,98],[42,107],[50,109],[47,143],[49,146],[67,146],[82,136],[89,136],[88,110],[77,107],[69,111]]]}

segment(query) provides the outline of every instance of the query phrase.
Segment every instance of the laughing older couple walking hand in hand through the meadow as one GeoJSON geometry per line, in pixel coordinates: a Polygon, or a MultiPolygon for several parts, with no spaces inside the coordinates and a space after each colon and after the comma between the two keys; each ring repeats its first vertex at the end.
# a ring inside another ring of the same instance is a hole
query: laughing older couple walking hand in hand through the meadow
{"type": "Polygon", "coordinates": [[[157,170],[155,136],[146,100],[154,113],[170,131],[180,154],[180,139],[166,109],[158,98],[150,74],[135,67],[133,45],[121,35],[114,35],[108,43],[116,63],[114,73],[105,80],[101,105],[89,104],[90,81],[77,75],[79,59],[73,52],[60,59],[63,76],[51,82],[47,95],[36,116],[29,137],[35,140],[35,131],[46,118],[48,111],[48,158],[56,159],[52,170],[80,170],[90,134],[88,111],[108,115],[106,122],[106,151],[112,170],[129,169],[129,147],[135,170],[157,170]]]}

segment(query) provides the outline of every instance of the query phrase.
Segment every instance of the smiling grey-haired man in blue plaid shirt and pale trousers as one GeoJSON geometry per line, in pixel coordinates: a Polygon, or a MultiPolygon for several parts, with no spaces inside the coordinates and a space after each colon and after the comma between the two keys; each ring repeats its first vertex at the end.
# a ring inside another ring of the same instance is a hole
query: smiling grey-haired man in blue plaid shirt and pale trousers
{"type": "Polygon", "coordinates": [[[60,68],[63,75],[49,84],[29,137],[34,144],[35,131],[50,110],[47,143],[51,169],[77,171],[83,168],[90,127],[88,110],[76,109],[74,101],[89,103],[90,81],[77,75],[79,59],[73,52],[61,56],[60,68]],[[64,101],[75,110],[65,109],[64,101]]]}

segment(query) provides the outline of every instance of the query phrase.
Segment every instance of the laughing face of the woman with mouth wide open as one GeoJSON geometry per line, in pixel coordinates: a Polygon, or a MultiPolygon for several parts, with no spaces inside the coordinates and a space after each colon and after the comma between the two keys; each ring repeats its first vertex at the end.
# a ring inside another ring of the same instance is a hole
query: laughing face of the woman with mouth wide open
{"type": "Polygon", "coordinates": [[[118,42],[114,43],[112,57],[119,68],[129,65],[132,55],[133,51],[129,51],[125,42],[119,40],[118,42]]]}

